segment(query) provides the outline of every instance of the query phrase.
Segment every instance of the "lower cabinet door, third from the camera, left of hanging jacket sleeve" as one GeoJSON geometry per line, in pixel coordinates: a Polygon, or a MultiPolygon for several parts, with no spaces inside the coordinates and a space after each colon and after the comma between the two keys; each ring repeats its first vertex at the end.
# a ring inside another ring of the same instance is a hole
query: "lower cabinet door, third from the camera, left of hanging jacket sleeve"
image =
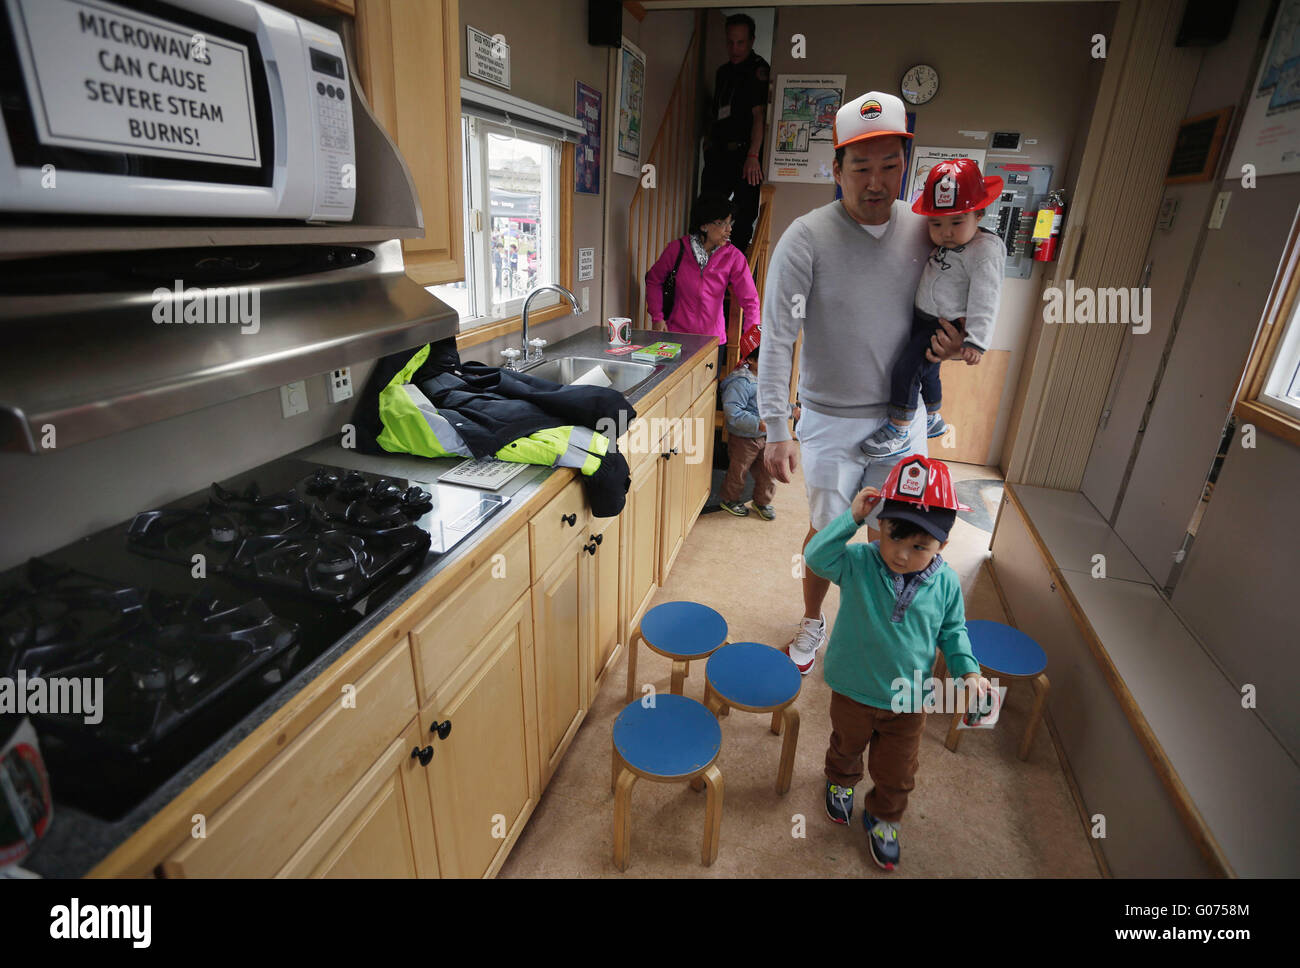
{"type": "Polygon", "coordinates": [[[586,531],[569,542],[533,586],[533,639],[537,651],[537,725],[542,786],[568,748],[586,709],[590,609],[582,581],[586,531]]]}

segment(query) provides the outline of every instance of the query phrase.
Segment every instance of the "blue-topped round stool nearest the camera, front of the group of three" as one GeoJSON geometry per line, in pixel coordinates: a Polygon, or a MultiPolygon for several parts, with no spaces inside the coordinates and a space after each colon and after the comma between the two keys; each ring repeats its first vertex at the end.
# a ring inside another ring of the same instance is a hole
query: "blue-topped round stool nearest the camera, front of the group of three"
{"type": "MultiPolygon", "coordinates": [[[[718,859],[718,835],[723,825],[723,774],[718,751],[723,730],[714,715],[694,699],[656,695],[646,708],[629,703],[614,721],[614,865],[628,869],[632,850],[632,787],[637,778],[659,783],[694,781],[708,787],[705,800],[705,842],[701,863],[718,859]]],[[[692,783],[694,786],[694,783],[692,783]]]]}

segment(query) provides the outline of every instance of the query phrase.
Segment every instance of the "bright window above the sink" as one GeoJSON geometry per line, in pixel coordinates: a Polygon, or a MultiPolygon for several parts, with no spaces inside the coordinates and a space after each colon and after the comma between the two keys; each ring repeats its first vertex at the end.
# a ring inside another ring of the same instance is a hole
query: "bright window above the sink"
{"type": "MultiPolygon", "coordinates": [[[[560,281],[560,142],[477,117],[464,144],[465,279],[429,291],[460,313],[460,331],[519,316],[524,296],[560,281]]],[[[554,305],[545,292],[532,307],[554,305]]]]}

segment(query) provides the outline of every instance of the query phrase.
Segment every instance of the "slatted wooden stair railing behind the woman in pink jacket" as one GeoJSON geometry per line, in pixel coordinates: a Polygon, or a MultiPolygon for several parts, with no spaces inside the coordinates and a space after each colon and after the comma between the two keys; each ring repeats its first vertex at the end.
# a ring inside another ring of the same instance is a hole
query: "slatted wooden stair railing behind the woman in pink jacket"
{"type": "Polygon", "coordinates": [[[628,316],[634,329],[650,329],[646,309],[646,273],[664,247],[685,231],[694,200],[696,87],[702,16],[696,18],[686,55],[672,87],[654,146],[645,165],[654,165],[655,187],[638,181],[628,210],[628,316]]]}

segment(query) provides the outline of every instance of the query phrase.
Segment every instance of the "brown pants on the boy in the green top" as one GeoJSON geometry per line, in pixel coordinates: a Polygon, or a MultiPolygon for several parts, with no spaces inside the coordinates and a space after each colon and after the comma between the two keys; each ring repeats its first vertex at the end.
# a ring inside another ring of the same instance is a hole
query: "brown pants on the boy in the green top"
{"type": "Polygon", "coordinates": [[[897,824],[916,786],[923,712],[892,712],[863,706],[831,693],[831,746],[826,751],[826,778],[836,786],[857,786],[862,780],[862,751],[875,787],[862,799],[876,820],[897,824]]]}

